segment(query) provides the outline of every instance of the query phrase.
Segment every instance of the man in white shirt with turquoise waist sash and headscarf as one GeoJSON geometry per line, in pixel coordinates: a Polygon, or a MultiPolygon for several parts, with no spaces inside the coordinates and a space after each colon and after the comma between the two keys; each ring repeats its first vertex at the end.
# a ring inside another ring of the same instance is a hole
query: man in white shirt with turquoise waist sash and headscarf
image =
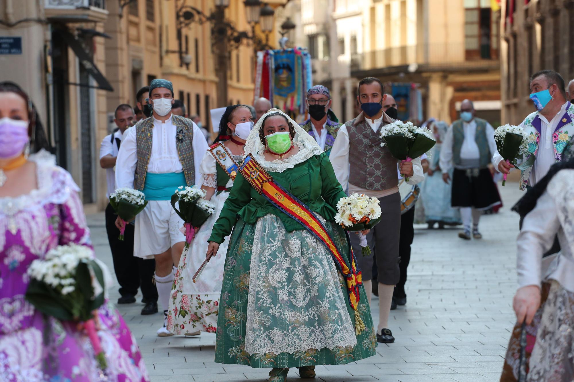
{"type": "MultiPolygon", "coordinates": [[[[165,329],[173,265],[179,264],[185,236],[184,222],[170,204],[179,186],[199,184],[199,166],[208,146],[200,128],[187,118],[172,114],[173,85],[155,79],[149,88],[152,116],[129,129],[118,153],[122,163],[115,174],[116,186],[141,190],[148,205],[135,217],[134,254],[156,260],[156,287],[164,309],[164,326],[158,336],[171,336],[165,329]]],[[[117,227],[122,222],[118,219],[117,227]]]]}

